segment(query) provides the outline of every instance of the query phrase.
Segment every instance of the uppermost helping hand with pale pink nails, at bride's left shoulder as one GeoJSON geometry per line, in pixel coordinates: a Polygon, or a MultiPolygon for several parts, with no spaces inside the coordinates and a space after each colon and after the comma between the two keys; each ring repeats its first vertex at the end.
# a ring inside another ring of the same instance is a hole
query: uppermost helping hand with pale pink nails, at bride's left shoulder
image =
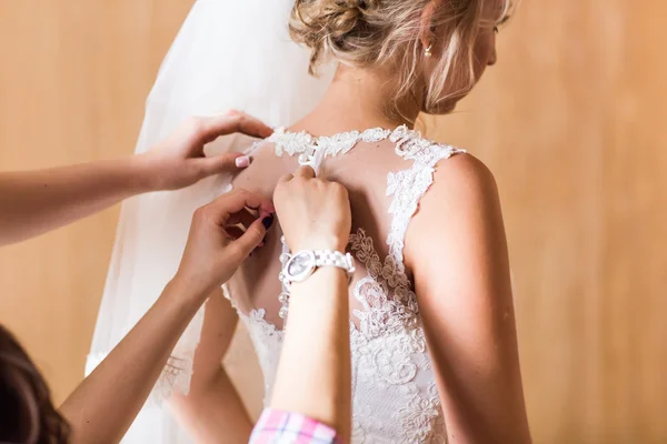
{"type": "Polygon", "coordinates": [[[178,190],[201,179],[222,172],[236,172],[250,164],[240,153],[225,153],[207,158],[203,147],[221,135],[243,133],[268,138],[271,130],[259,120],[238,111],[209,118],[190,118],[171,135],[141,155],[137,161],[146,172],[150,190],[178,190]]]}

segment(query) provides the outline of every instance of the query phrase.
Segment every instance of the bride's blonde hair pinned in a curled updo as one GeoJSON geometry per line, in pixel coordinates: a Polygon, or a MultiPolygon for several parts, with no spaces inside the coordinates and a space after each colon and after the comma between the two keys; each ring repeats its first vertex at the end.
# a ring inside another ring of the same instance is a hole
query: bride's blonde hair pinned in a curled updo
{"type": "MultiPolygon", "coordinates": [[[[395,101],[399,102],[414,94],[419,84],[425,52],[420,41],[421,14],[430,1],[296,0],[290,34],[311,49],[312,74],[329,57],[357,68],[391,68],[397,73],[395,101]]],[[[435,41],[444,52],[427,79],[424,92],[427,112],[475,84],[474,47],[479,28],[485,24],[481,21],[485,1],[489,0],[447,0],[434,11],[431,29],[439,30],[446,41],[435,41]],[[464,84],[459,84],[460,79],[464,84]],[[448,93],[444,95],[444,91],[448,93]]],[[[504,1],[502,16],[506,16],[510,2],[504,1]]]]}

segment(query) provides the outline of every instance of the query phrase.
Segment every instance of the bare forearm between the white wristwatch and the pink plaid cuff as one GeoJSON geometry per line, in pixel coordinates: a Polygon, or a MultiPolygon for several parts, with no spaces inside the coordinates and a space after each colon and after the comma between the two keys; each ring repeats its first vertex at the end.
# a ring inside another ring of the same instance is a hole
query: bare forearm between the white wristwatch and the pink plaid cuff
{"type": "Polygon", "coordinates": [[[320,269],[295,284],[270,406],[350,433],[351,370],[347,276],[320,269]]]}

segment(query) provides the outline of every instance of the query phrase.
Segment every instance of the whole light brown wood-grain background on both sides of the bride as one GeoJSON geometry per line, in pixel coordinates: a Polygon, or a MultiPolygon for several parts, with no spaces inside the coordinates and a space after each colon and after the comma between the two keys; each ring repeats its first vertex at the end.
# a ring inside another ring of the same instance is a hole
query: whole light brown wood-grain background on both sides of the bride
{"type": "MultiPolygon", "coordinates": [[[[0,2],[0,169],[129,154],[191,1],[0,2]]],[[[526,0],[429,135],[495,171],[536,443],[664,443],[667,3],[526,0]]],[[[63,396],[118,209],[0,250],[0,321],[63,396]]]]}

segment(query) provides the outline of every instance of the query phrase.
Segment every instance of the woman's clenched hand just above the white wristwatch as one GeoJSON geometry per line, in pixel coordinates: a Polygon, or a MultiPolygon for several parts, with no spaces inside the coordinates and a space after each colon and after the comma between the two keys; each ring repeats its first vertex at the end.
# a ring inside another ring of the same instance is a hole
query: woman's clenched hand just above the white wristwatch
{"type": "Polygon", "coordinates": [[[273,203],[291,251],[345,252],[351,230],[350,201],[345,186],[316,179],[310,167],[301,167],[278,182],[273,203]]]}

